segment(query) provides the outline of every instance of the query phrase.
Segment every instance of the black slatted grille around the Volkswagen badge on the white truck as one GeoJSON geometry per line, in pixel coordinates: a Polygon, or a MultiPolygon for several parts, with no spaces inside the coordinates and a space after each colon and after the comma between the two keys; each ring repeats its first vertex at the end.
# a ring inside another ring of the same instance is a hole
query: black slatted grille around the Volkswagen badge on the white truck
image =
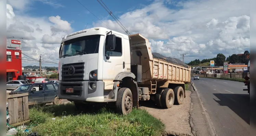
{"type": "Polygon", "coordinates": [[[62,71],[61,71],[61,77],[62,81],[83,81],[84,80],[84,73],[85,73],[85,63],[72,63],[72,64],[63,64],[62,65],[62,71]],[[74,66],[75,73],[73,75],[68,74],[68,68],[70,66],[74,66]]]}

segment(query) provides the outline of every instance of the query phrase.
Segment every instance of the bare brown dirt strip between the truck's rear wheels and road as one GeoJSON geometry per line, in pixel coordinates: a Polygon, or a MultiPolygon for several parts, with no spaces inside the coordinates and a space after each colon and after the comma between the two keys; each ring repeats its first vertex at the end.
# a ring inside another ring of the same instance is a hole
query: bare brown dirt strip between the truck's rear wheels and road
{"type": "Polygon", "coordinates": [[[142,104],[151,115],[160,119],[166,125],[166,135],[192,136],[190,126],[191,91],[186,91],[186,98],[181,105],[173,105],[169,109],[160,109],[155,105],[142,104]]]}

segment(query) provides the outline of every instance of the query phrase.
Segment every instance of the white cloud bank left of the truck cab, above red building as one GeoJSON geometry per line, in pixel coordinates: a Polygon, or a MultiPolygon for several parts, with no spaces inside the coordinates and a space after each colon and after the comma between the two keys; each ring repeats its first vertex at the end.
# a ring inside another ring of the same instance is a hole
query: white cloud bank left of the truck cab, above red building
{"type": "MultiPolygon", "coordinates": [[[[7,4],[7,37],[23,38],[24,59],[47,59],[58,63],[61,38],[71,33],[71,24],[60,16],[29,17],[15,14],[13,6],[7,4]]],[[[35,61],[23,60],[23,65],[39,65],[35,61]]],[[[47,65],[47,63],[44,63],[47,65]]]]}

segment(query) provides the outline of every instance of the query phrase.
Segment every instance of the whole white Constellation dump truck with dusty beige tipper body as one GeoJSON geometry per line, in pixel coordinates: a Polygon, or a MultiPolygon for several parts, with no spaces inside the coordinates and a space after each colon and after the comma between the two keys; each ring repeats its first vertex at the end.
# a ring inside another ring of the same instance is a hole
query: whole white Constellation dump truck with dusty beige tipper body
{"type": "Polygon", "coordinates": [[[106,28],[90,28],[63,37],[59,50],[58,97],[86,107],[115,103],[129,114],[139,101],[160,107],[182,104],[191,67],[177,58],[152,53],[140,34],[125,35],[106,28]]]}

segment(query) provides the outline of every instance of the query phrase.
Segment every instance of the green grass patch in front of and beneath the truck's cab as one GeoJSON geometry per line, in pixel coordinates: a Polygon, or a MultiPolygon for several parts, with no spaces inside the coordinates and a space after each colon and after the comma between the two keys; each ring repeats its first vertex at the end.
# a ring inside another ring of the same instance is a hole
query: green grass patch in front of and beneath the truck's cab
{"type": "Polygon", "coordinates": [[[29,133],[37,132],[40,136],[158,136],[165,130],[160,120],[143,109],[134,108],[129,115],[122,116],[106,107],[81,112],[69,103],[34,106],[29,113],[30,125],[37,124],[29,133]]]}

